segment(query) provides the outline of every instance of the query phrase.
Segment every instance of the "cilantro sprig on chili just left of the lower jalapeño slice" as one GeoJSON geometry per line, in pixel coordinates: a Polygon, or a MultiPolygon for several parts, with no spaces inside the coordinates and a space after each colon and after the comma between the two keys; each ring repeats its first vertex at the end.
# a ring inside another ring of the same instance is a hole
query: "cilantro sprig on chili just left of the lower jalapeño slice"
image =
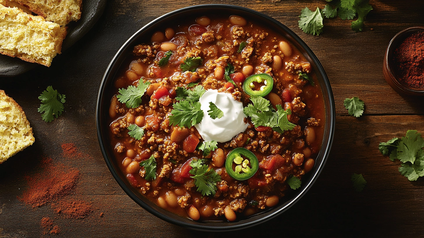
{"type": "Polygon", "coordinates": [[[190,163],[192,169],[190,170],[191,178],[194,178],[197,191],[202,195],[215,195],[217,187],[216,183],[221,181],[221,176],[215,172],[214,169],[209,169],[207,164],[200,166],[195,160],[190,163]]]}

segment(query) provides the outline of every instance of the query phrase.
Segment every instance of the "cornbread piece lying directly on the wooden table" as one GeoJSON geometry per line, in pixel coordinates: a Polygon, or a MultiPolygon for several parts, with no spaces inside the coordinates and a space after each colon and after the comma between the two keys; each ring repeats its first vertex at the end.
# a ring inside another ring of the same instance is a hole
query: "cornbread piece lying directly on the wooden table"
{"type": "Polygon", "coordinates": [[[0,90],[0,164],[34,143],[25,112],[0,90]]]}

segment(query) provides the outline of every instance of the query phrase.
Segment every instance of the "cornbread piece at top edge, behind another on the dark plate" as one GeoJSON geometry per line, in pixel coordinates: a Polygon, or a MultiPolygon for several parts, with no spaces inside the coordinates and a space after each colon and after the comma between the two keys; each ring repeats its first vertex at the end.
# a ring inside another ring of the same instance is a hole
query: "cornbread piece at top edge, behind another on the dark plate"
{"type": "Polygon", "coordinates": [[[47,21],[65,26],[81,18],[82,0],[5,0],[19,3],[47,21]]]}

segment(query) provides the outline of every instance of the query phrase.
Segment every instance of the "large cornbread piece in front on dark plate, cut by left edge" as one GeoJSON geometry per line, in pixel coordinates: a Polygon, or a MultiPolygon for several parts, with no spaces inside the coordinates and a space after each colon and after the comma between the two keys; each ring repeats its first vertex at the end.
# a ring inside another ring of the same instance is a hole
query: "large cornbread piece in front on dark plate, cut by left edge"
{"type": "Polygon", "coordinates": [[[0,53],[50,66],[60,54],[66,27],[19,8],[0,5],[0,53]]]}

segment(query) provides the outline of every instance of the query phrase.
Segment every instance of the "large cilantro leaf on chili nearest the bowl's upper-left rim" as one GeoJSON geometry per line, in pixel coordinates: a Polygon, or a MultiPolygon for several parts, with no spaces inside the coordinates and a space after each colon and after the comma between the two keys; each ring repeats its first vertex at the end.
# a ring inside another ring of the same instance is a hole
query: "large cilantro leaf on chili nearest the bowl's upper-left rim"
{"type": "Polygon", "coordinates": [[[116,96],[118,101],[125,103],[127,108],[137,108],[141,104],[141,97],[149,87],[150,82],[143,82],[143,79],[138,81],[138,85],[128,86],[127,89],[121,88],[116,96]]]}

